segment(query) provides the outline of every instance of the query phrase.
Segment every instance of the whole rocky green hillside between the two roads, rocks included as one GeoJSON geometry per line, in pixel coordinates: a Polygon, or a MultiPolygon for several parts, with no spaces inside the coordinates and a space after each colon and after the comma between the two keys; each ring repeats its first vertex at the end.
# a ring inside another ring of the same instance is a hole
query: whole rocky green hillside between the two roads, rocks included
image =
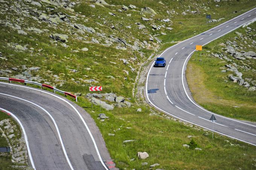
{"type": "Polygon", "coordinates": [[[0,76],[81,95],[78,105],[94,118],[120,169],[255,168],[254,147],[219,135],[212,140],[136,97],[143,94],[140,71],[157,53],[254,5],[215,1],[0,0],[0,76]],[[207,25],[205,14],[213,19],[207,25]],[[93,85],[103,87],[106,119],[99,118],[99,94],[89,93],[93,85]],[[189,149],[190,138],[202,150],[189,149]]]}

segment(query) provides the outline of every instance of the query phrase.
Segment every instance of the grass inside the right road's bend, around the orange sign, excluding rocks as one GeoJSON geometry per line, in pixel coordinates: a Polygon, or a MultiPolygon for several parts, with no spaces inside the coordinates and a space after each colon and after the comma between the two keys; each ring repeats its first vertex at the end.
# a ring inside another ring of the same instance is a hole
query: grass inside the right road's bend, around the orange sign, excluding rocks
{"type": "MultiPolygon", "coordinates": [[[[253,23],[250,27],[256,29],[256,24],[253,23]]],[[[236,31],[245,35],[245,30],[246,28],[239,28],[236,31]]],[[[235,32],[232,32],[207,44],[202,52],[202,63],[196,62],[195,55],[193,55],[187,66],[187,80],[194,99],[200,105],[204,106],[204,108],[228,117],[255,122],[256,91],[248,91],[247,88],[228,80],[227,77],[229,74],[234,75],[231,71],[227,71],[226,73],[220,72],[223,70],[220,68],[224,67],[225,64],[232,64],[233,62],[239,63],[240,61],[233,59],[232,62],[225,62],[225,60],[223,61],[210,57],[208,55],[209,53],[205,53],[207,50],[213,53],[221,52],[223,46],[219,44],[225,43],[227,40],[237,41],[239,44],[244,44],[244,42],[235,40],[234,37],[236,36],[235,32]],[[228,80],[228,82],[225,82],[224,80],[228,80]]],[[[253,39],[255,40],[255,37],[253,39]]],[[[245,51],[255,52],[256,48],[255,46],[247,47],[245,51]]],[[[256,67],[256,62],[254,60],[247,60],[244,61],[244,63],[249,64],[252,68],[248,71],[239,69],[239,71],[243,73],[243,78],[248,77],[256,80],[255,73],[252,71],[252,69],[255,69],[256,67]]]]}

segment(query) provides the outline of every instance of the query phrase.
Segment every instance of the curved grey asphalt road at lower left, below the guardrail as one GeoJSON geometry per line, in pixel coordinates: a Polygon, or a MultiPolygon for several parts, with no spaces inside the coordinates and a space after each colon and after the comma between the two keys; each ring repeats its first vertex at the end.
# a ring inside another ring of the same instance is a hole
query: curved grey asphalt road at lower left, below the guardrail
{"type": "Polygon", "coordinates": [[[94,120],[65,97],[0,82],[0,108],[20,120],[37,170],[108,169],[111,158],[94,120]]]}

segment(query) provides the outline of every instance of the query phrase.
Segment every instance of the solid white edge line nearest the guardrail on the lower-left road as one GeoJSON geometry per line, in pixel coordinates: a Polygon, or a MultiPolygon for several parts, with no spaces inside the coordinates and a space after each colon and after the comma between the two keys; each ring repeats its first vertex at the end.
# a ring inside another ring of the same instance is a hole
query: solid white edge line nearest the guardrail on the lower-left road
{"type": "MultiPolygon", "coordinates": [[[[153,64],[154,64],[154,62],[153,62],[153,64]]],[[[152,65],[152,66],[153,66],[153,65],[152,65]]],[[[21,85],[15,85],[15,84],[10,84],[10,83],[4,83],[4,82],[0,82],[0,83],[2,83],[2,84],[7,84],[7,85],[18,86],[18,87],[23,87],[23,88],[28,88],[28,89],[32,89],[32,90],[35,90],[35,91],[41,91],[41,92],[43,92],[43,93],[46,93],[46,94],[49,94],[49,95],[51,95],[51,96],[57,97],[58,99],[60,99],[60,100],[62,100],[62,101],[64,101],[64,102],[66,102],[68,105],[70,105],[70,106],[76,111],[76,113],[79,115],[79,117],[81,118],[82,122],[84,123],[84,126],[86,127],[88,133],[90,134],[91,140],[93,141],[95,150],[96,150],[97,155],[98,155],[98,157],[99,157],[99,159],[100,159],[100,161],[101,161],[101,164],[105,167],[106,170],[108,170],[107,166],[106,166],[106,165],[104,164],[104,162],[102,161],[101,155],[99,154],[98,147],[97,147],[96,142],[95,142],[95,140],[94,140],[94,138],[93,138],[93,135],[91,134],[91,131],[90,131],[89,127],[87,126],[87,124],[85,123],[84,119],[82,118],[82,115],[78,112],[78,110],[77,110],[71,103],[69,103],[67,100],[62,99],[62,98],[59,97],[59,96],[55,96],[54,94],[47,93],[46,91],[43,91],[43,90],[38,90],[38,89],[35,89],[35,88],[30,88],[30,87],[21,86],[21,85]]]]}

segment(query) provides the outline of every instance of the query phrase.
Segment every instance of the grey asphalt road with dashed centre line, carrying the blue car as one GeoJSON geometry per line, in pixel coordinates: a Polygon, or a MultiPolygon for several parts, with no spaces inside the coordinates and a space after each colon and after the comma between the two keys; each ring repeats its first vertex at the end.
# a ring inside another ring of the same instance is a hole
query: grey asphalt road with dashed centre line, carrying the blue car
{"type": "MultiPolygon", "coordinates": [[[[212,129],[212,112],[199,106],[187,86],[185,70],[196,45],[205,45],[256,18],[256,8],[166,49],[166,67],[153,67],[146,81],[146,100],[158,110],[180,120],[212,129]]],[[[256,123],[235,120],[214,114],[214,131],[256,146],[256,123]]]]}

